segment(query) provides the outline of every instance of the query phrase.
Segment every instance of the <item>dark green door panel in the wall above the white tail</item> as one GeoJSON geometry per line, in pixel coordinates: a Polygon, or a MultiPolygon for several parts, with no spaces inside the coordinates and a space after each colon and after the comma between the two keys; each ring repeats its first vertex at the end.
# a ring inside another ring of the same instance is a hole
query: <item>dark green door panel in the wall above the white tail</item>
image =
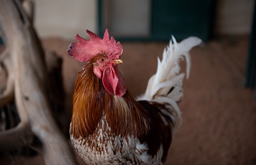
{"type": "Polygon", "coordinates": [[[168,40],[173,34],[176,40],[191,35],[207,40],[213,9],[213,0],[152,0],[152,38],[168,40]]]}

